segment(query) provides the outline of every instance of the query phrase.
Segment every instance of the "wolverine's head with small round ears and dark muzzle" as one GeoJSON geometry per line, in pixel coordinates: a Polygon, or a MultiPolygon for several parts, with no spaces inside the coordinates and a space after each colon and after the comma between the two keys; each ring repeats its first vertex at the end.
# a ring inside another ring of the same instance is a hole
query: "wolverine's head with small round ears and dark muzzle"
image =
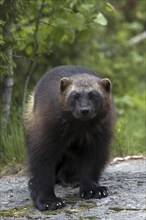
{"type": "Polygon", "coordinates": [[[111,82],[88,74],[63,77],[60,81],[60,98],[64,110],[76,119],[86,121],[107,110],[111,99],[111,82]]]}

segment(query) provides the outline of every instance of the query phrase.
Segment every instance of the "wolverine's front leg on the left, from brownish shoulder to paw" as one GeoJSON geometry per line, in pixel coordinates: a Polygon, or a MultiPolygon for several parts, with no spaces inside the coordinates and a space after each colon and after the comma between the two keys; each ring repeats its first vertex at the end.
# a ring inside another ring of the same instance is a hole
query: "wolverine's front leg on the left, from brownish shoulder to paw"
{"type": "MultiPolygon", "coordinates": [[[[41,124],[36,117],[31,130],[26,130],[26,145],[28,148],[29,170],[31,179],[29,189],[34,206],[43,210],[54,210],[65,206],[64,201],[56,197],[54,185],[56,181],[56,165],[64,154],[62,139],[56,142],[59,135],[49,129],[46,121],[41,124]],[[60,145],[58,145],[58,143],[60,145]]],[[[49,122],[51,125],[51,121],[49,122]]],[[[57,129],[56,129],[57,130],[57,129]]],[[[55,130],[55,131],[56,131],[55,130]]]]}

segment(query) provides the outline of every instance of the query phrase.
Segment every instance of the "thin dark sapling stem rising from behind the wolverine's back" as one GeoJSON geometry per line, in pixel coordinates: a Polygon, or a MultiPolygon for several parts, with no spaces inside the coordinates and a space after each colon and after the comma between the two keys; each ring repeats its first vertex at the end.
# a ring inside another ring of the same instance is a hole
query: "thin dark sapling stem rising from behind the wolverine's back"
{"type": "Polygon", "coordinates": [[[33,55],[33,58],[31,59],[31,61],[29,63],[29,66],[28,66],[28,69],[27,69],[27,72],[26,72],[26,80],[25,80],[25,85],[24,85],[24,96],[23,96],[23,103],[22,103],[23,104],[23,110],[25,109],[27,88],[28,88],[30,76],[32,74],[32,70],[33,70],[34,63],[35,63],[37,53],[38,53],[39,45],[38,45],[38,41],[37,41],[37,33],[38,33],[38,30],[39,30],[39,24],[40,24],[40,20],[41,20],[41,16],[42,16],[42,10],[43,10],[43,7],[44,7],[44,2],[45,2],[45,0],[42,0],[40,10],[39,10],[39,13],[38,13],[38,18],[37,18],[37,21],[36,21],[36,27],[35,27],[35,32],[34,32],[34,37],[35,37],[34,55],[33,55]]]}

